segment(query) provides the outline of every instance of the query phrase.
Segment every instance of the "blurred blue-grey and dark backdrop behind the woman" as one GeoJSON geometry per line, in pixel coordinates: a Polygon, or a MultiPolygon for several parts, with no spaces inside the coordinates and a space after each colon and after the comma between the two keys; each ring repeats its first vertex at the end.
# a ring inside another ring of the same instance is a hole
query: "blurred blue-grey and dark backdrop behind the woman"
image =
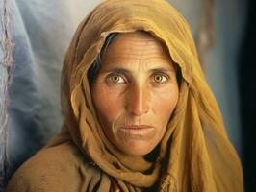
{"type": "MultiPolygon", "coordinates": [[[[78,23],[100,2],[0,1],[1,185],[4,177],[10,178],[22,162],[60,132],[64,53],[78,23]],[[11,38],[13,41],[5,41],[11,38]],[[6,53],[12,50],[13,62],[11,57],[5,60],[6,53]],[[4,132],[7,129],[9,136],[4,132]]],[[[169,3],[191,26],[229,138],[243,161],[246,191],[256,191],[255,1],[169,0],[169,3]]]]}

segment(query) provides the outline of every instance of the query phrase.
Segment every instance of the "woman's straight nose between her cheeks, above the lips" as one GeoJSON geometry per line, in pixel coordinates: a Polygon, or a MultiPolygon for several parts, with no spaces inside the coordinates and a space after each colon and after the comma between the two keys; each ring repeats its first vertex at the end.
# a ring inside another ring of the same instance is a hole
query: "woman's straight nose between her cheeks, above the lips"
{"type": "Polygon", "coordinates": [[[150,91],[146,86],[134,85],[127,94],[128,112],[135,116],[145,114],[150,109],[150,91]]]}

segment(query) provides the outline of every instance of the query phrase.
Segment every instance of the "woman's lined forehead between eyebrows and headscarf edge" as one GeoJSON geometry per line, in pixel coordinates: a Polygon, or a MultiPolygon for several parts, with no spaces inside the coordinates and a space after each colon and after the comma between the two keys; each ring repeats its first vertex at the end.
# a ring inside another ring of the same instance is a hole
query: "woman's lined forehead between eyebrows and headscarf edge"
{"type": "Polygon", "coordinates": [[[119,34],[103,53],[103,65],[144,62],[173,67],[166,46],[156,37],[145,32],[119,34]]]}

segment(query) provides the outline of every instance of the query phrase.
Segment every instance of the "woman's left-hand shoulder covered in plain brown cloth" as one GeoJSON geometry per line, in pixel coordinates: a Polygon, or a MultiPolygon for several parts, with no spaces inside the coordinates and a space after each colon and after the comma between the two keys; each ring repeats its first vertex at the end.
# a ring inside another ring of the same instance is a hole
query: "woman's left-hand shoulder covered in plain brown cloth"
{"type": "Polygon", "coordinates": [[[73,143],[66,142],[42,149],[27,160],[13,175],[7,192],[80,191],[91,171],[100,174],[73,143]]]}

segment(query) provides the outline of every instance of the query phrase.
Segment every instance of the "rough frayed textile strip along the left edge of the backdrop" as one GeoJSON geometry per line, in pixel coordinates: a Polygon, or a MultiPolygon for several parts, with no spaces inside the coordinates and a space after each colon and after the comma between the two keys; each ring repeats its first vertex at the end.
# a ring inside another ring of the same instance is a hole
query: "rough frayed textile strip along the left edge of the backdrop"
{"type": "Polygon", "coordinates": [[[8,87],[13,76],[13,38],[9,1],[0,2],[0,191],[7,175],[8,156],[8,87]]]}

